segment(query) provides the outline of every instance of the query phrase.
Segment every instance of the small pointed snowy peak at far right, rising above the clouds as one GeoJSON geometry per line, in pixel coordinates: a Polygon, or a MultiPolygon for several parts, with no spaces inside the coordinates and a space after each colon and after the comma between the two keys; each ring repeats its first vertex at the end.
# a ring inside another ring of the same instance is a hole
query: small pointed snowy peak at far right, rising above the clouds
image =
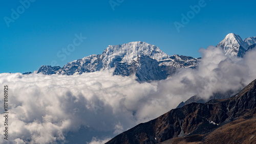
{"type": "Polygon", "coordinates": [[[228,34],[217,46],[221,47],[226,55],[243,57],[248,47],[256,44],[256,37],[242,38],[234,33],[228,34]]]}

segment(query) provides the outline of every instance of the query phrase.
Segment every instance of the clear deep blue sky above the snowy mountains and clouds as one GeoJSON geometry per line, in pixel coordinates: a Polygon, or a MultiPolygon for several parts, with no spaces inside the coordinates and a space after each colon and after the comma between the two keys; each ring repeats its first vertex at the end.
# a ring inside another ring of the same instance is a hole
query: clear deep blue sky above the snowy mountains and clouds
{"type": "Polygon", "coordinates": [[[124,0],[113,10],[108,0],[37,0],[24,9],[19,1],[2,1],[0,73],[33,72],[53,60],[63,66],[101,54],[108,45],[131,41],[154,44],[168,55],[200,57],[201,47],[217,45],[228,33],[243,39],[256,36],[255,1],[205,0],[206,6],[178,32],[174,22],[181,23],[181,14],[186,15],[189,6],[198,3],[124,0]],[[17,12],[17,8],[20,14],[8,21],[8,27],[5,17],[12,18],[12,9],[17,12]],[[74,35],[80,33],[87,39],[65,60],[57,57],[57,52],[72,44],[74,35]]]}

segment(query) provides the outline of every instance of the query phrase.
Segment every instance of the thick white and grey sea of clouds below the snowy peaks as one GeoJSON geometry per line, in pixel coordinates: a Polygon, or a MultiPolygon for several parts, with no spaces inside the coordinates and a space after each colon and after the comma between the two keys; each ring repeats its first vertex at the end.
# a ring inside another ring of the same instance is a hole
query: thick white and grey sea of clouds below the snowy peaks
{"type": "MultiPolygon", "coordinates": [[[[113,69],[82,75],[0,74],[0,93],[8,85],[9,143],[66,143],[82,128],[84,143],[104,143],[113,136],[150,121],[195,94],[239,91],[256,79],[256,51],[230,58],[221,49],[201,49],[197,69],[173,77],[139,83],[113,76],[113,69]],[[94,132],[95,134],[89,134],[94,132]]],[[[0,130],[4,134],[4,97],[0,130]]],[[[0,134],[0,143],[7,142],[0,134]]]]}

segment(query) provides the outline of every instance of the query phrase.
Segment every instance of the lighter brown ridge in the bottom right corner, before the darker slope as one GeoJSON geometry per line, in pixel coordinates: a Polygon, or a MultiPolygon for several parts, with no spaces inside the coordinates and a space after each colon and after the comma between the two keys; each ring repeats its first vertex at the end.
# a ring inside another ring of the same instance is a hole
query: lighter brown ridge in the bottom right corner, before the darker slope
{"type": "Polygon", "coordinates": [[[160,143],[256,143],[256,108],[207,134],[176,137],[160,143]]]}

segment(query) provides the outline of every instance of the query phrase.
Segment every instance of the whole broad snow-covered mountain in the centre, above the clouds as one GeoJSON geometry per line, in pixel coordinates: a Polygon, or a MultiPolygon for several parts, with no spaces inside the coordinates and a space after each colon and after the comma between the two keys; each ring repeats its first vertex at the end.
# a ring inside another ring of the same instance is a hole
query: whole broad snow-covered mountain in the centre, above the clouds
{"type": "Polygon", "coordinates": [[[136,41],[109,45],[101,55],[91,55],[69,62],[63,67],[41,66],[38,73],[74,75],[115,68],[114,75],[136,75],[137,81],[166,79],[181,68],[195,68],[200,58],[168,56],[157,46],[136,41]]]}

